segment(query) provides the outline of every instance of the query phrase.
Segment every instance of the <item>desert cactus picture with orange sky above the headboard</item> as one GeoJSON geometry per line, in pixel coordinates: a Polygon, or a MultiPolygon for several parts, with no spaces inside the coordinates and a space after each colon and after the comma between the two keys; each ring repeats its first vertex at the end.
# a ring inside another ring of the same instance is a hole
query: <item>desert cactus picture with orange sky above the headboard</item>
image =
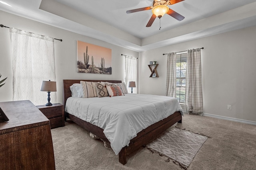
{"type": "Polygon", "coordinates": [[[111,49],[77,41],[77,72],[112,74],[111,62],[111,49]]]}

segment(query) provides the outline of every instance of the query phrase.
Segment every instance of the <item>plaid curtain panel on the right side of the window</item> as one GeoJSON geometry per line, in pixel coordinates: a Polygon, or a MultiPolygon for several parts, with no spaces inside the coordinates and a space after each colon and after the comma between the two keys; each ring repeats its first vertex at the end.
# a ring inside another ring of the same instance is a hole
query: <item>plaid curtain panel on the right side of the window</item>
{"type": "Polygon", "coordinates": [[[203,113],[201,49],[188,50],[185,104],[188,113],[203,113]]]}

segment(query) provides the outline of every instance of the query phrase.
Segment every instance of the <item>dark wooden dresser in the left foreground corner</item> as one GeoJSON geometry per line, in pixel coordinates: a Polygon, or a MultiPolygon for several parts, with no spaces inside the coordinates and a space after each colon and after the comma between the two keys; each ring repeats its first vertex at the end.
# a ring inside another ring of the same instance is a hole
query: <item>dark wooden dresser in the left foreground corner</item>
{"type": "Polygon", "coordinates": [[[0,102],[1,170],[55,170],[50,121],[29,100],[0,102]]]}

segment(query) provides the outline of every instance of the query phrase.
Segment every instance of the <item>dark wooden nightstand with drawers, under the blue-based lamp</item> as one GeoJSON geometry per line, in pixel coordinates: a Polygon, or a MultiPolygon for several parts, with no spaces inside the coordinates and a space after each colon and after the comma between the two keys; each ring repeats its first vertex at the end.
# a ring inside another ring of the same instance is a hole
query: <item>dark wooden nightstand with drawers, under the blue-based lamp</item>
{"type": "Polygon", "coordinates": [[[49,120],[51,129],[65,126],[64,124],[64,106],[62,104],[52,104],[52,106],[36,106],[49,120]]]}

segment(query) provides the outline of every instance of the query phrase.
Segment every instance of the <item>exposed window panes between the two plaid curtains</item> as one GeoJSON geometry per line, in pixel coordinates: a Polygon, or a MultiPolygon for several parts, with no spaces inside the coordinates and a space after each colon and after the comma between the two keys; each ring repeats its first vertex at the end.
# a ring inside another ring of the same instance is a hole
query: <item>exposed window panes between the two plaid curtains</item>
{"type": "Polygon", "coordinates": [[[187,52],[176,53],[176,98],[185,103],[187,52]]]}

